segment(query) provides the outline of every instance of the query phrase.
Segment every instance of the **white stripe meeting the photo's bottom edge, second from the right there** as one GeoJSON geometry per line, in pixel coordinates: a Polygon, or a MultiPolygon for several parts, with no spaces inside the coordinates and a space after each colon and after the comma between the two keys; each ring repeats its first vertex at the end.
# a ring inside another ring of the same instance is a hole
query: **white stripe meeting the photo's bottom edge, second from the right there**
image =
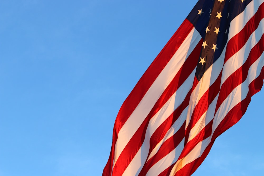
{"type": "Polygon", "coordinates": [[[161,160],[159,160],[156,164],[154,164],[149,171],[147,172],[146,176],[155,176],[162,173],[165,169],[175,163],[184,147],[184,139],[180,142],[180,144],[172,150],[169,154],[164,156],[161,160]]]}

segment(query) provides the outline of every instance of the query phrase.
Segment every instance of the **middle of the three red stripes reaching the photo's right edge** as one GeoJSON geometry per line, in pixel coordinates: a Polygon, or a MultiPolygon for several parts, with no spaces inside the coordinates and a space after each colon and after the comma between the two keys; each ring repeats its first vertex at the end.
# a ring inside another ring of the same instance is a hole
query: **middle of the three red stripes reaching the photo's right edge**
{"type": "Polygon", "coordinates": [[[225,80],[222,84],[219,98],[217,100],[215,113],[228,97],[228,95],[236,88],[239,84],[243,83],[247,79],[248,70],[250,66],[261,56],[264,51],[264,35],[262,35],[260,41],[250,51],[246,62],[237,69],[230,77],[225,80]]]}

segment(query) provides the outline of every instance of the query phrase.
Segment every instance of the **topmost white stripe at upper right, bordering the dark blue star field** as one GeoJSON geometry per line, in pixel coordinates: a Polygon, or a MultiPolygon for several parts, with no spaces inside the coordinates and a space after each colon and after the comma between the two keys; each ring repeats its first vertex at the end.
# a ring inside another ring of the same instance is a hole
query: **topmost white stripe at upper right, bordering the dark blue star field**
{"type": "Polygon", "coordinates": [[[260,4],[262,4],[264,0],[253,0],[251,1],[245,10],[240,13],[238,16],[236,16],[230,23],[230,31],[228,34],[228,40],[230,40],[232,37],[237,35],[237,31],[241,31],[244,26],[247,24],[247,22],[252,18],[255,13],[257,12],[260,4]]]}

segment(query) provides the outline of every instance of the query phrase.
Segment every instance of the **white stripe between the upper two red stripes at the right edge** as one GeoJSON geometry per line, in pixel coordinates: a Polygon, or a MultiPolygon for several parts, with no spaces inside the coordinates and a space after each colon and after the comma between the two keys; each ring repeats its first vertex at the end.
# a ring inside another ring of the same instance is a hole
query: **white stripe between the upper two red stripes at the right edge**
{"type": "Polygon", "coordinates": [[[223,67],[221,85],[225,82],[225,80],[227,80],[230,75],[232,75],[246,62],[251,49],[258,43],[258,41],[260,41],[263,33],[264,18],[260,21],[258,28],[248,38],[246,44],[225,63],[223,67]]]}

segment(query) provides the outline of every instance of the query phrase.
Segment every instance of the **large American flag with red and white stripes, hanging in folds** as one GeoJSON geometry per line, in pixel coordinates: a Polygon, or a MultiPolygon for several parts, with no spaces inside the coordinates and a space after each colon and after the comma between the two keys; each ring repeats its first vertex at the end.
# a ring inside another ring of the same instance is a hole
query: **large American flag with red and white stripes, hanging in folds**
{"type": "Polygon", "coordinates": [[[199,0],[122,104],[103,176],[191,175],[264,78],[264,0],[199,0]]]}

